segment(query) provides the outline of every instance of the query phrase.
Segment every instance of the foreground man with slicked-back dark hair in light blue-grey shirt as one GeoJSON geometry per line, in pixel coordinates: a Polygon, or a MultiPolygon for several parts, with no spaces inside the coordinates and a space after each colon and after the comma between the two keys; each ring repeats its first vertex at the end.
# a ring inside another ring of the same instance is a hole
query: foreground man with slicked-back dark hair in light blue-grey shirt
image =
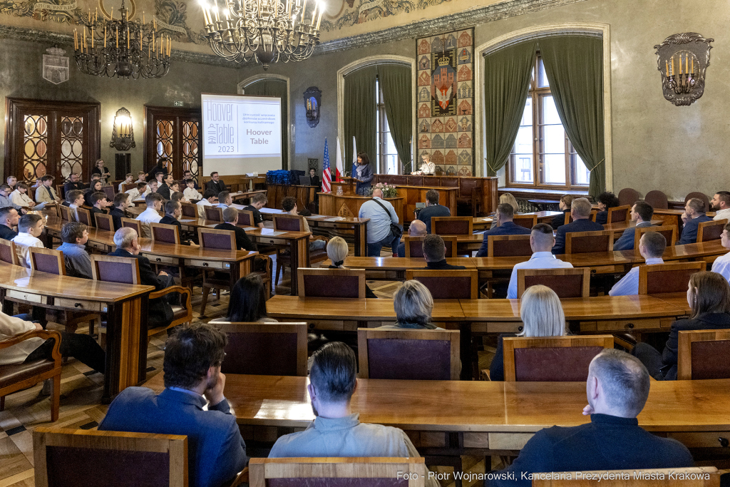
{"type": "MultiPolygon", "coordinates": [[[[419,457],[411,440],[398,428],[358,421],[350,399],[358,386],[353,350],[342,342],[330,342],[312,353],[310,384],[315,420],[303,432],[280,437],[270,459],[291,457],[419,457]]],[[[435,478],[426,484],[437,487],[435,478]]]]}

